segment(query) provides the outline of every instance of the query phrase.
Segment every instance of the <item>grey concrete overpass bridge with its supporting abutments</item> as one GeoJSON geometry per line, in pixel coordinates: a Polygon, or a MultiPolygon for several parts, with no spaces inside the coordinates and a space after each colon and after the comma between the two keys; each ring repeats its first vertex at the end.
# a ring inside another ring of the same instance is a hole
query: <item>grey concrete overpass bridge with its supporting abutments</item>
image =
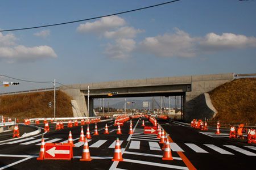
{"type": "Polygon", "coordinates": [[[71,84],[60,86],[59,89],[76,101],[81,116],[93,116],[93,99],[96,98],[181,96],[184,121],[191,121],[192,118],[213,116],[214,111],[207,104],[205,93],[233,79],[234,73],[191,75],[71,84]],[[87,111],[88,87],[89,113],[87,111]],[[111,92],[118,92],[118,94],[108,96],[111,92]],[[200,113],[197,112],[197,108],[200,108],[200,113]]]}

